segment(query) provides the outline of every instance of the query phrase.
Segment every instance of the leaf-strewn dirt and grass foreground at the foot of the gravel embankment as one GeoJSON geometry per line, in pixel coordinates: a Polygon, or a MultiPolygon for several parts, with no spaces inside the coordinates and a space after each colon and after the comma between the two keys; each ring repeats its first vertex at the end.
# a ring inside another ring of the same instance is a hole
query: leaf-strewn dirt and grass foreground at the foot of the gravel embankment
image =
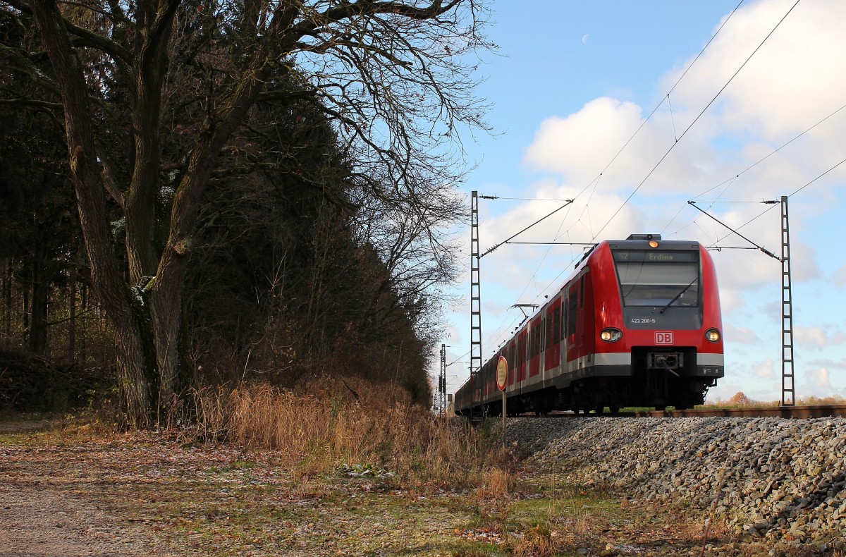
{"type": "Polygon", "coordinates": [[[536,472],[519,472],[528,487],[503,497],[294,471],[271,451],[176,435],[46,424],[0,419],[0,557],[767,554],[717,524],[705,534],[695,510],[646,507],[536,472]]]}

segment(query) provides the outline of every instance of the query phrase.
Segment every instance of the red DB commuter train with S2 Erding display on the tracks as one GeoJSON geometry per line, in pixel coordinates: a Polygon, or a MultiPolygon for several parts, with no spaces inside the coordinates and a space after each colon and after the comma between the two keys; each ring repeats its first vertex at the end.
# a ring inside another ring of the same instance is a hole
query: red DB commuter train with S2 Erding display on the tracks
{"type": "Polygon", "coordinates": [[[695,241],[632,234],[582,258],[562,289],[455,394],[455,411],[507,412],[702,404],[724,375],[717,274],[695,241]]]}

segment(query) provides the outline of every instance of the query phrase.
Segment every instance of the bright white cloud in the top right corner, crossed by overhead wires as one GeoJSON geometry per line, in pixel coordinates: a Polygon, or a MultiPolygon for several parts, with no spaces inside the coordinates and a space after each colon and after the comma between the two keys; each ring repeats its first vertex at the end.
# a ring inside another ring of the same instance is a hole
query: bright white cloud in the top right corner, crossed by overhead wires
{"type": "MultiPolygon", "coordinates": [[[[794,0],[766,0],[747,4],[733,14],[695,69],[673,91],[674,108],[698,113],[793,4],[794,0]]],[[[805,130],[826,110],[841,106],[846,49],[838,47],[841,25],[832,24],[843,20],[846,3],[840,0],[799,3],[722,91],[720,125],[780,140],[805,130]],[[785,111],[788,103],[791,109],[785,111]]],[[[688,63],[667,74],[667,89],[688,63]]]]}

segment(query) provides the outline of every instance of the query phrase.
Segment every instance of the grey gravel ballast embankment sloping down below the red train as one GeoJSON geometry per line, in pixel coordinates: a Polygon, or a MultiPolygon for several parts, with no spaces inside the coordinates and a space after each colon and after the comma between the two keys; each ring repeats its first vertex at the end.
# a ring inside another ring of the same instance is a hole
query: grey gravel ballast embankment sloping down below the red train
{"type": "Polygon", "coordinates": [[[689,504],[739,534],[846,549],[846,419],[515,418],[528,462],[645,501],[689,504]]]}

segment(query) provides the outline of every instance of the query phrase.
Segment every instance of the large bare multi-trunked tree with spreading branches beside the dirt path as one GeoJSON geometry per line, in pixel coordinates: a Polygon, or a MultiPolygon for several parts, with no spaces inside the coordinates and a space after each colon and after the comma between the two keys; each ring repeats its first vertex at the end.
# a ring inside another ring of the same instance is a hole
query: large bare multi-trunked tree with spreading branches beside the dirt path
{"type": "MultiPolygon", "coordinates": [[[[91,279],[117,334],[131,424],[150,425],[174,394],[206,185],[272,155],[238,142],[257,103],[295,96],[327,113],[361,200],[414,215],[392,218],[398,226],[426,231],[458,214],[448,193],[462,169],[456,131],[484,127],[471,75],[473,53],[487,46],[481,2],[0,2],[5,19],[35,21],[49,56],[45,73],[40,52],[4,50],[7,63],[62,99],[91,279]],[[109,198],[124,216],[123,258],[109,198]],[[162,199],[169,214],[157,212],[162,199]]],[[[437,234],[414,234],[433,253],[447,247],[437,234]]]]}

